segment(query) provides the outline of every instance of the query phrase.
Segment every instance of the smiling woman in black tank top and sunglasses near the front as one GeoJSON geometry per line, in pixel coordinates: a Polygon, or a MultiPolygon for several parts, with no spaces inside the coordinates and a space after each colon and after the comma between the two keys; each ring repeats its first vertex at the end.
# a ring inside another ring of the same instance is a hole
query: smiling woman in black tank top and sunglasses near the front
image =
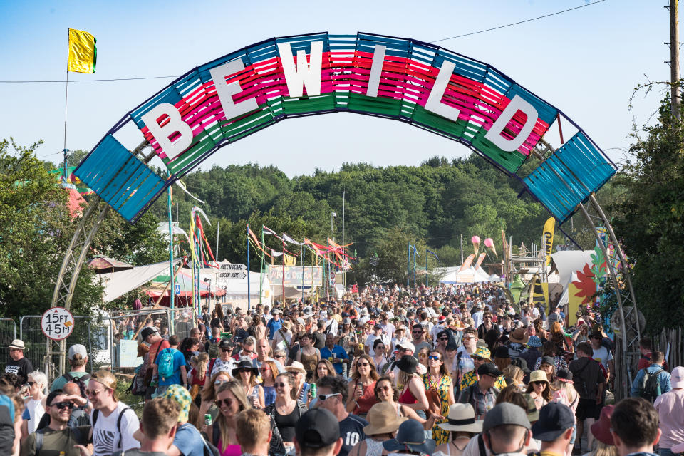
{"type": "Polygon", "coordinates": [[[294,375],[291,373],[278,374],[274,386],[276,400],[266,407],[264,412],[276,423],[283,445],[285,445],[285,454],[294,456],[294,427],[301,415],[306,413],[306,405],[297,400],[294,375]]]}

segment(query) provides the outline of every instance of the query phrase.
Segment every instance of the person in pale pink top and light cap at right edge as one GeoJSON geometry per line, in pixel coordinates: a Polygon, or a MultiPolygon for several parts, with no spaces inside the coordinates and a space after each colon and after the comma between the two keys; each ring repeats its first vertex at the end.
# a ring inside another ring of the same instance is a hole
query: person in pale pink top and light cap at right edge
{"type": "Polygon", "coordinates": [[[678,366],[670,373],[670,385],[672,390],[669,393],[661,394],[655,399],[653,407],[658,411],[660,418],[660,430],[663,435],[660,437],[658,454],[661,456],[672,456],[674,453],[682,452],[684,449],[676,449],[676,445],[684,444],[684,368],[678,366]]]}

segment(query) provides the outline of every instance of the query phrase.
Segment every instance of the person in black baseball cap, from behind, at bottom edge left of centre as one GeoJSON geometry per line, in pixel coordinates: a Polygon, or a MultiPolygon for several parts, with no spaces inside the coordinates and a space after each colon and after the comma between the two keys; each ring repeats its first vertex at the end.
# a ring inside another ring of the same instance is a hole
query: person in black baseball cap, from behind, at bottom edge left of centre
{"type": "Polygon", "coordinates": [[[314,408],[301,415],[294,426],[294,436],[294,446],[300,456],[342,454],[339,423],[325,408],[314,408]]]}

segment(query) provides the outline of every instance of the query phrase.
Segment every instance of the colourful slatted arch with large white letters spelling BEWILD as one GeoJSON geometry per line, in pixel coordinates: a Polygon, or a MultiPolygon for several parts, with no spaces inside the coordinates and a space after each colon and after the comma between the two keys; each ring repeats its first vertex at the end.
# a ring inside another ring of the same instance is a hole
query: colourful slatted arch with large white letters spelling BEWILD
{"type": "Polygon", "coordinates": [[[78,165],[74,175],[98,198],[74,234],[53,305],[71,303],[108,207],[135,223],[167,187],[220,147],[284,119],[336,112],[399,120],[460,142],[519,180],[559,223],[584,202],[594,204],[592,194],[617,169],[559,109],[487,63],[371,33],[271,38],[180,76],[123,116],[78,165]],[[540,152],[536,147],[546,144],[541,138],[561,115],[577,133],[558,150],[540,152]],[[144,138],[134,152],[115,138],[130,125],[144,138]],[[152,153],[138,157],[148,145],[152,153]],[[165,163],[166,179],[147,167],[153,155],[165,163]],[[530,155],[543,161],[519,175],[530,155]]]}

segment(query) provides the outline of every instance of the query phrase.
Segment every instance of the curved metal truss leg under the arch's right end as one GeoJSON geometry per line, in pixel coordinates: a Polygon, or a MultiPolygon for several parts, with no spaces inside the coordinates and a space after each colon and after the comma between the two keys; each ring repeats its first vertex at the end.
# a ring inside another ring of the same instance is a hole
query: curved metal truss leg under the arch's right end
{"type": "MultiPolygon", "coordinates": [[[[592,201],[591,203],[594,204],[594,207],[598,208],[597,212],[602,215],[601,219],[603,219],[603,222],[606,224],[606,227],[608,229],[608,234],[611,235],[611,241],[616,246],[616,249],[619,249],[619,246],[617,244],[617,240],[614,239],[615,234],[613,233],[613,229],[610,226],[610,224],[608,223],[608,220],[605,219],[605,214],[603,214],[603,210],[600,210],[601,207],[598,206],[598,202],[596,202],[595,198],[594,198],[594,201],[592,201]]],[[[620,364],[620,361],[622,361],[624,363],[623,372],[626,371],[626,373],[627,373],[626,379],[625,379],[626,381],[620,382],[621,383],[622,398],[627,398],[629,396],[629,389],[628,388],[631,386],[632,380],[633,380],[632,369],[631,369],[631,363],[632,363],[631,358],[636,353],[638,353],[638,341],[639,341],[639,327],[638,326],[639,326],[639,323],[638,323],[638,314],[636,312],[636,301],[634,300],[634,297],[633,297],[633,291],[631,289],[631,282],[629,282],[630,283],[629,292],[631,293],[631,296],[628,296],[628,299],[632,301],[631,304],[633,304],[633,306],[631,306],[631,309],[628,309],[628,314],[631,314],[631,312],[633,311],[634,315],[636,316],[636,337],[630,338],[630,337],[628,337],[628,333],[627,333],[627,328],[626,328],[627,323],[626,323],[625,311],[624,311],[624,307],[623,307],[623,299],[626,296],[623,296],[623,291],[622,291],[620,283],[618,282],[618,279],[617,279],[616,268],[613,266],[612,261],[610,261],[611,257],[608,255],[608,249],[606,248],[606,245],[603,244],[603,239],[601,239],[601,237],[598,235],[598,231],[596,230],[596,225],[594,225],[594,220],[591,219],[591,216],[589,215],[589,212],[587,212],[586,208],[584,207],[584,204],[578,204],[577,207],[579,207],[582,214],[584,214],[584,217],[586,218],[586,221],[589,222],[589,226],[591,227],[591,229],[594,230],[594,236],[596,237],[596,242],[598,243],[598,247],[601,249],[601,251],[603,252],[603,256],[606,258],[606,266],[607,266],[609,275],[611,277],[611,282],[613,283],[613,289],[615,290],[616,299],[618,301],[618,310],[617,311],[618,311],[618,316],[620,317],[620,331],[622,334],[622,343],[621,343],[621,348],[622,348],[621,358],[622,358],[622,360],[618,360],[618,366],[620,364]],[[635,342],[636,342],[636,351],[634,349],[635,348],[634,347],[635,342]]],[[[621,255],[621,259],[622,258],[623,258],[623,256],[621,255]]],[[[626,263],[623,263],[623,264],[626,264],[626,263]]],[[[629,281],[627,271],[624,271],[623,276],[626,276],[627,280],[629,281]]],[[[630,328],[630,329],[632,329],[632,328],[630,328]]],[[[616,371],[618,371],[618,369],[616,369],[616,371]]],[[[614,373],[614,374],[616,374],[616,373],[614,373]]],[[[616,390],[616,393],[617,392],[618,391],[616,390]]],[[[616,397],[616,399],[620,399],[620,397],[618,396],[618,397],[616,397]]]]}

